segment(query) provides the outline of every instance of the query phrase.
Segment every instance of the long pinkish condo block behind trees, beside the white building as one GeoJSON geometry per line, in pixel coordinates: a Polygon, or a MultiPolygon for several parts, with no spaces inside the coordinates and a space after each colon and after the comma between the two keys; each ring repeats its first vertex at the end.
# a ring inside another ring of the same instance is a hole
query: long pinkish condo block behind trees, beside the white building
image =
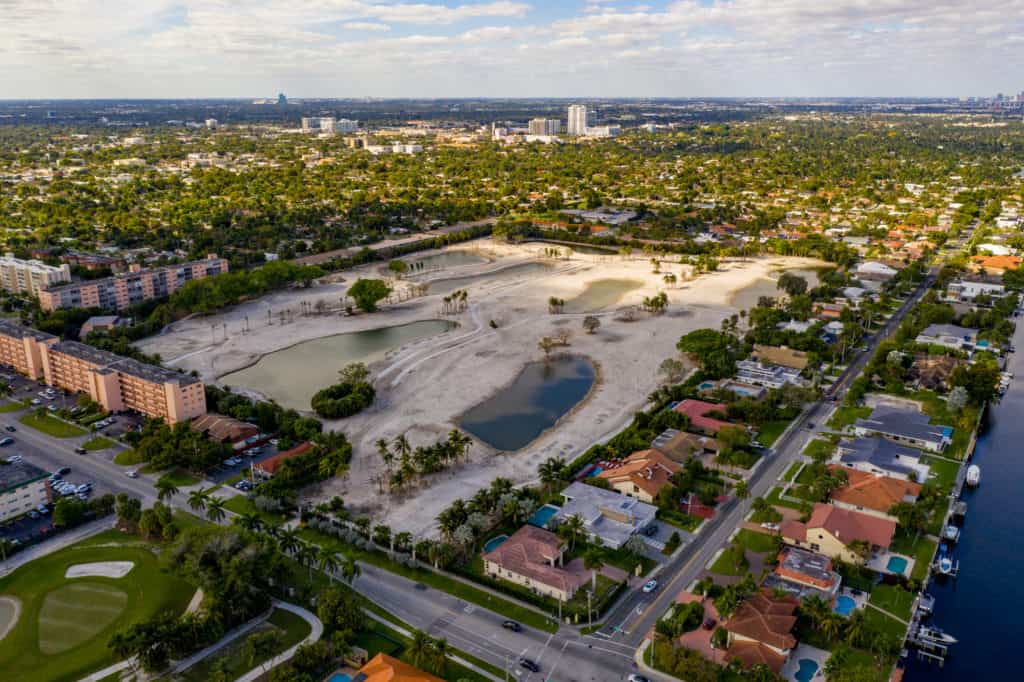
{"type": "Polygon", "coordinates": [[[153,298],[170,296],[185,283],[227,271],[227,260],[211,253],[203,260],[142,269],[133,264],[127,272],[91,282],[76,282],[39,292],[43,310],[103,308],[122,310],[153,298]]]}

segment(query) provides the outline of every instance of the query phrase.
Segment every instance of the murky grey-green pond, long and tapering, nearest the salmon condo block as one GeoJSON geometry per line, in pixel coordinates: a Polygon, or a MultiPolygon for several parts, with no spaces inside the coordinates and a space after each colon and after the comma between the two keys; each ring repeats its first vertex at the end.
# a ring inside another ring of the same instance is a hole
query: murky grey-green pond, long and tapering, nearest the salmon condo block
{"type": "Polygon", "coordinates": [[[426,319],[303,341],[267,353],[255,365],[224,375],[219,383],[259,391],[285,408],[308,411],[313,393],[335,383],[346,365],[369,365],[393,348],[456,327],[446,319],[426,319]]]}

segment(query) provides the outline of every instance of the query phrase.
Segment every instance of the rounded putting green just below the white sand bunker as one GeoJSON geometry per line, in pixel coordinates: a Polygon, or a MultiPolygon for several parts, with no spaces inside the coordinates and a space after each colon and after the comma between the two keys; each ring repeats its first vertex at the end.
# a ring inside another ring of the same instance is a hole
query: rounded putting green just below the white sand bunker
{"type": "Polygon", "coordinates": [[[39,650],[75,648],[114,623],[127,605],[123,590],[102,583],[75,582],[51,591],[39,609],[39,650]]]}

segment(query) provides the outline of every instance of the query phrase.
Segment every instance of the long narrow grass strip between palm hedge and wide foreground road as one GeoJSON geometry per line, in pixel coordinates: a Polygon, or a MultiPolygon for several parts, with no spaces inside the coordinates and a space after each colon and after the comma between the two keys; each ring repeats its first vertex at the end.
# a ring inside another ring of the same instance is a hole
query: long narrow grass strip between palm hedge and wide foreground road
{"type": "Polygon", "coordinates": [[[312,528],[302,528],[299,530],[299,536],[303,540],[313,543],[314,545],[321,545],[323,547],[334,549],[336,552],[345,556],[366,561],[367,563],[389,570],[392,573],[422,583],[423,585],[440,590],[441,592],[446,592],[451,595],[459,597],[460,599],[465,599],[466,601],[477,604],[478,606],[483,606],[484,608],[488,608],[497,613],[514,619],[531,628],[537,628],[546,632],[555,632],[558,630],[558,626],[552,623],[550,619],[530,608],[519,606],[518,604],[514,604],[507,599],[497,597],[489,592],[484,592],[483,590],[466,585],[465,583],[455,581],[447,576],[442,576],[425,568],[410,568],[408,566],[403,566],[390,561],[386,556],[378,552],[360,550],[350,545],[346,545],[336,538],[332,538],[312,528]]]}

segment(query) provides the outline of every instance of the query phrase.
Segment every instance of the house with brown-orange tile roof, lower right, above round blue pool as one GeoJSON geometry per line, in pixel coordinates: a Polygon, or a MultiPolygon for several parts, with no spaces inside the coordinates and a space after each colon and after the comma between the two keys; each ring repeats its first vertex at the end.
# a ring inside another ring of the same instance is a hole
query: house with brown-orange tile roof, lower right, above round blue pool
{"type": "Polygon", "coordinates": [[[793,628],[799,605],[790,595],[775,597],[767,590],[744,599],[722,624],[729,633],[727,657],[738,658],[743,668],[763,664],[779,674],[797,646],[793,628]]]}

